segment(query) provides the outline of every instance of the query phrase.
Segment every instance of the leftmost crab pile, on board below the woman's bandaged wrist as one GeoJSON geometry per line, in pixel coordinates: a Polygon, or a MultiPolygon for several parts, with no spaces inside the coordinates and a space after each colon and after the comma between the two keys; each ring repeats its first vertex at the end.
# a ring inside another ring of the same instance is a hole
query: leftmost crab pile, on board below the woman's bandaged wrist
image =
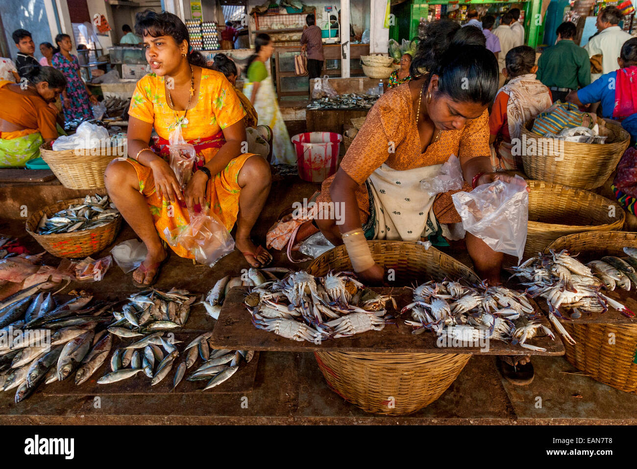
{"type": "Polygon", "coordinates": [[[382,330],[391,322],[387,301],[397,308],[392,297],[365,288],[352,272],[315,277],[298,271],[252,288],[245,304],[259,329],[320,344],[329,338],[382,330]]]}

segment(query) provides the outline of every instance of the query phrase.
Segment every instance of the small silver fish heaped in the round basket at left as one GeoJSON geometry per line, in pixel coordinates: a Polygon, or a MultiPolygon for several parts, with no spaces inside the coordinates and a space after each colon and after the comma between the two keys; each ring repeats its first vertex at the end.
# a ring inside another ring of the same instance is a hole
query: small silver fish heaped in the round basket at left
{"type": "Polygon", "coordinates": [[[44,216],[38,223],[37,234],[71,233],[103,227],[120,216],[115,204],[109,204],[108,195],[87,195],[83,204],[71,204],[67,209],[44,216]]]}

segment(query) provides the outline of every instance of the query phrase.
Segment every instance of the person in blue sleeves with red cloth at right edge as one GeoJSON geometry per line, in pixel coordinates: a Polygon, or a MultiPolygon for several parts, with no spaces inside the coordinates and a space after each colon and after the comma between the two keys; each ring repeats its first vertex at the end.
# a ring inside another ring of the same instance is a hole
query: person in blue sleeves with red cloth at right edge
{"type": "Polygon", "coordinates": [[[637,38],[622,45],[617,63],[619,70],[602,75],[578,91],[571,91],[566,101],[579,107],[601,101],[602,116],[619,121],[631,134],[631,145],[634,145],[637,141],[637,38]]]}

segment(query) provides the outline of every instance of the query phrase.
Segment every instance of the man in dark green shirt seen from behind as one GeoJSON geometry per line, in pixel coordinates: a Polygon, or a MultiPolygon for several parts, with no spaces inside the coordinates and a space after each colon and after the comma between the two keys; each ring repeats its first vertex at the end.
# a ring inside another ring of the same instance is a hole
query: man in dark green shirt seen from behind
{"type": "Polygon", "coordinates": [[[590,85],[589,54],[573,42],[575,24],[557,27],[557,43],[545,49],[538,60],[537,78],[548,86],[553,102],[564,101],[569,91],[590,85]]]}

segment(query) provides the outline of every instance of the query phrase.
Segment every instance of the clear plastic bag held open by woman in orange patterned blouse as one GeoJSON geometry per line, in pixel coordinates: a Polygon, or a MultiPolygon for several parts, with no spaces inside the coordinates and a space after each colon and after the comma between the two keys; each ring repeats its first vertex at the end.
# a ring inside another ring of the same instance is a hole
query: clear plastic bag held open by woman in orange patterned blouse
{"type": "Polygon", "coordinates": [[[494,181],[451,196],[462,227],[489,248],[522,260],[529,222],[529,194],[524,179],[494,181]]]}

